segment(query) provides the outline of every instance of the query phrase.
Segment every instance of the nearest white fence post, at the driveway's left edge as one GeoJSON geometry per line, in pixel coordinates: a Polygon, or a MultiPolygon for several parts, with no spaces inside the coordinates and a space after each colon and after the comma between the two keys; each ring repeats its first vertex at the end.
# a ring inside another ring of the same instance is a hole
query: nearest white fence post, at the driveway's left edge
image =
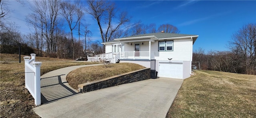
{"type": "Polygon", "coordinates": [[[36,106],[41,104],[41,86],[40,86],[40,67],[41,67],[41,62],[34,62],[32,63],[33,67],[35,69],[35,83],[34,83],[34,87],[35,87],[35,104],[36,106]]]}

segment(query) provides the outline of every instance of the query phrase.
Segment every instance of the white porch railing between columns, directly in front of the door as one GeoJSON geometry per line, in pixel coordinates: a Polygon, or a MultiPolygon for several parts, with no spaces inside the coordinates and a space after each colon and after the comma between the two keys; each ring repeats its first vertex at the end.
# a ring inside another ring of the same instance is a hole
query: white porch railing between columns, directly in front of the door
{"type": "Polygon", "coordinates": [[[154,59],[154,52],[149,51],[133,51],[133,52],[121,52],[120,58],[128,59],[154,59]]]}

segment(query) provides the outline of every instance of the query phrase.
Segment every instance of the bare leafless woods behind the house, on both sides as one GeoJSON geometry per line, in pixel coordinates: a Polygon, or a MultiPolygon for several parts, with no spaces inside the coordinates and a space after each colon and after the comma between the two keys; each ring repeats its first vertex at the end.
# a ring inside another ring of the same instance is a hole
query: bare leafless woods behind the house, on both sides
{"type": "MultiPolygon", "coordinates": [[[[22,4],[21,0],[17,0],[22,4]]],[[[8,1],[0,0],[0,52],[18,54],[18,45],[22,44],[22,54],[36,53],[38,56],[75,59],[80,56],[94,56],[104,53],[104,45],[114,38],[138,34],[169,32],[179,33],[176,26],[162,24],[131,23],[131,16],[126,11],[117,14],[117,8],[111,1],[88,0],[74,2],[62,0],[35,0],[26,22],[31,33],[21,34],[19,27],[8,21],[10,10],[8,1]],[[89,6],[85,8],[84,6],[89,6]],[[85,14],[98,24],[101,42],[92,40],[90,25],[85,14]],[[115,22],[114,22],[115,21],[115,22]],[[68,32],[66,27],[68,26],[68,32]],[[102,28],[106,28],[103,30],[102,28]],[[76,37],[76,38],[75,38],[76,37]],[[78,37],[78,38],[77,38],[78,37]]],[[[193,53],[193,62],[200,62],[201,69],[256,74],[256,24],[241,26],[231,36],[228,51],[212,50],[204,52],[199,48],[193,53]]],[[[196,42],[195,42],[196,43],[196,42]]],[[[193,63],[198,66],[198,63],[193,63]]]]}

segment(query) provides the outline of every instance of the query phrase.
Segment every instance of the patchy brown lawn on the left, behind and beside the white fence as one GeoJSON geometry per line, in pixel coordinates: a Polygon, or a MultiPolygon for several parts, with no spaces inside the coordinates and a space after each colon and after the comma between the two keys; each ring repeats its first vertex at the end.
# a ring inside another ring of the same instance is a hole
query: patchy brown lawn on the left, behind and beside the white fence
{"type": "MultiPolygon", "coordinates": [[[[0,54],[0,118],[39,118],[32,111],[34,98],[25,89],[24,55],[18,63],[17,54],[0,54]],[[18,73],[19,74],[15,74],[18,73]]],[[[73,60],[36,57],[42,62],[41,75],[68,66],[98,64],[97,62],[72,62],[73,60]]]]}

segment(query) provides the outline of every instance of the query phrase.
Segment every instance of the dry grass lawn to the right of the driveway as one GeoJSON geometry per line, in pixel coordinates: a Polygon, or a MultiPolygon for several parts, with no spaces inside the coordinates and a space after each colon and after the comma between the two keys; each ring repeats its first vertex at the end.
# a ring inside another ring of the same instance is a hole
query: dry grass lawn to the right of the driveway
{"type": "Polygon", "coordinates": [[[256,118],[256,76],[210,70],[184,80],[167,118],[256,118]]]}

